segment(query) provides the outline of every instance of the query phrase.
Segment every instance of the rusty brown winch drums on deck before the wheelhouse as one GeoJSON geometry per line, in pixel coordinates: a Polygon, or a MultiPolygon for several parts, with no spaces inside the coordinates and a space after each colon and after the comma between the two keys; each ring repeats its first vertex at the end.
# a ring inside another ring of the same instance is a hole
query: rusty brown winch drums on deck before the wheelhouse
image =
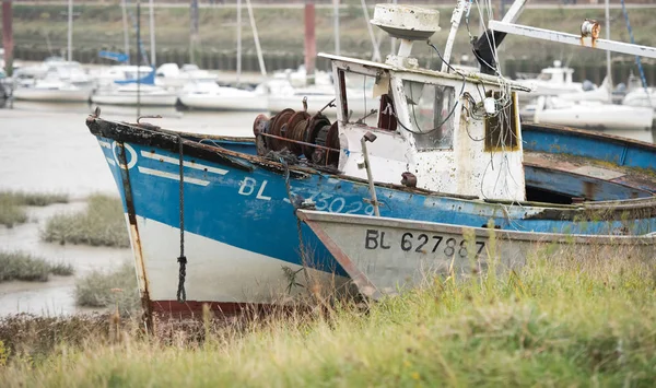
{"type": "Polygon", "coordinates": [[[296,156],[304,155],[313,164],[337,167],[339,163],[337,121],[331,124],[320,111],[311,116],[306,109],[288,108],[271,118],[258,115],[253,133],[260,156],[286,149],[296,156]]]}

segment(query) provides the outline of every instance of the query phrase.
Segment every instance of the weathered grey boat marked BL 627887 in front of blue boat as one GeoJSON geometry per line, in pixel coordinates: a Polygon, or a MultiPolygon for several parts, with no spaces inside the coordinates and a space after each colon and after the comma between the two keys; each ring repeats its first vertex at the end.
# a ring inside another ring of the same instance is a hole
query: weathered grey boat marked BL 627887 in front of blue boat
{"type": "MultiPolygon", "coordinates": [[[[656,201],[606,203],[604,210],[614,207],[653,208],[656,201]]],[[[305,209],[297,212],[359,292],[374,299],[425,284],[435,275],[469,277],[491,268],[508,271],[530,258],[558,255],[648,260],[656,255],[656,233],[522,232],[305,209]]]]}

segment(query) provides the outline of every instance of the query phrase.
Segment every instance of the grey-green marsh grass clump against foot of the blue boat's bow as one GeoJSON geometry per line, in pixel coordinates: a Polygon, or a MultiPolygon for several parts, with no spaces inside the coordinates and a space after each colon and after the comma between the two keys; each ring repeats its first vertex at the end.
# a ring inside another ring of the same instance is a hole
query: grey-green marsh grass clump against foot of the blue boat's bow
{"type": "Polygon", "coordinates": [[[124,263],[113,272],[93,271],[75,283],[75,303],[84,307],[118,304],[122,313],[140,308],[133,263],[124,263]]]}

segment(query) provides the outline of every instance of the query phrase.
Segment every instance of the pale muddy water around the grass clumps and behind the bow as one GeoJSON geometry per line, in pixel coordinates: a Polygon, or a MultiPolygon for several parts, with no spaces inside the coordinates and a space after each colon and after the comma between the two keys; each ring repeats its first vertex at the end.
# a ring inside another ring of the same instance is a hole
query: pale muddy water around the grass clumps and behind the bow
{"type": "MultiPolygon", "coordinates": [[[[129,249],[43,243],[39,231],[60,212],[84,209],[83,198],[93,192],[118,196],[101,149],[84,120],[92,108],[85,104],[14,102],[0,109],[0,190],[63,192],[68,204],[28,208],[30,222],[13,228],[0,226],[0,249],[23,250],[52,262],[68,262],[74,277],[50,277],[45,283],[0,283],[0,316],[14,313],[46,315],[87,311],[75,306],[75,279],[92,270],[109,271],[132,260],[129,249]]],[[[164,128],[200,133],[253,136],[254,113],[178,113],[173,108],[141,109],[161,115],[144,121],[164,128]]],[[[136,108],[106,107],[102,117],[136,121],[136,108]]]]}

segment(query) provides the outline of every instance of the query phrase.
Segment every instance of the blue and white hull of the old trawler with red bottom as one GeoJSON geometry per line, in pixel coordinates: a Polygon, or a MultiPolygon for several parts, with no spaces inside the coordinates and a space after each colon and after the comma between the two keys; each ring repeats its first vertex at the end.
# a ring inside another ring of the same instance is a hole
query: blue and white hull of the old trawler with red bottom
{"type": "MultiPolygon", "coordinates": [[[[347,273],[295,205],[373,214],[365,181],[290,166],[246,153],[184,141],[186,303],[176,302],[180,226],[179,141],[175,134],[87,120],[124,202],[147,308],[197,311],[209,303],[230,311],[283,302],[312,284],[343,289],[347,273]],[[288,190],[289,186],[289,190],[288,190]],[[304,271],[304,269],[306,269],[304,271]]],[[[577,234],[656,231],[652,205],[633,210],[512,205],[393,185],[376,187],[387,217],[502,230],[577,234]],[[645,210],[646,209],[646,210],[645,210]]]]}

